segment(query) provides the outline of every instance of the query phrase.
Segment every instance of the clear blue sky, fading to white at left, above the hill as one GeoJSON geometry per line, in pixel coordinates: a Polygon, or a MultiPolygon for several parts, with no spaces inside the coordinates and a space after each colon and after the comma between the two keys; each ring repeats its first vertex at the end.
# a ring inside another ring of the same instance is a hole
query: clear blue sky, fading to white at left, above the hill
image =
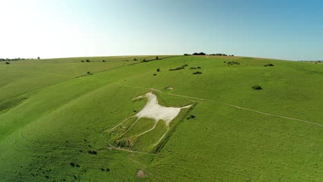
{"type": "Polygon", "coordinates": [[[323,1],[0,0],[0,58],[206,52],[323,60],[323,1]]]}

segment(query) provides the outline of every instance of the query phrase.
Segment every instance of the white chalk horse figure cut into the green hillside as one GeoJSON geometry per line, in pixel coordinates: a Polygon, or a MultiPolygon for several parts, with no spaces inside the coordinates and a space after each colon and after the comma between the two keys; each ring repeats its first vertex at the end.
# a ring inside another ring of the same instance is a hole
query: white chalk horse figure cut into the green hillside
{"type": "MultiPolygon", "coordinates": [[[[148,101],[142,110],[140,110],[134,116],[124,119],[119,124],[115,125],[115,127],[108,130],[107,132],[111,132],[112,130],[115,130],[115,128],[117,128],[119,125],[124,123],[124,121],[126,121],[127,119],[130,119],[130,118],[137,118],[137,119],[135,120],[135,122],[132,125],[130,125],[128,130],[130,130],[133,127],[133,125],[135,125],[135,123],[137,123],[137,121],[141,118],[154,119],[155,123],[152,128],[150,128],[149,130],[147,130],[145,132],[142,132],[141,134],[137,134],[137,136],[141,136],[143,134],[146,134],[146,133],[154,130],[156,128],[158,121],[163,120],[163,121],[165,121],[166,132],[161,136],[161,138],[157,141],[157,143],[154,144],[154,145],[157,145],[161,141],[161,139],[163,139],[164,136],[166,136],[167,132],[169,131],[170,121],[173,121],[173,119],[175,119],[175,117],[177,117],[177,115],[179,114],[179,112],[182,109],[190,108],[192,106],[192,105],[186,105],[182,108],[173,108],[173,107],[166,107],[164,105],[159,105],[157,97],[152,92],[142,94],[139,97],[136,97],[135,99],[133,99],[133,101],[135,101],[137,99],[142,99],[145,97],[146,97],[146,99],[148,99],[148,101]]],[[[126,130],[126,132],[128,132],[128,130],[126,130]]],[[[126,133],[126,132],[124,132],[124,133],[126,133]]]]}

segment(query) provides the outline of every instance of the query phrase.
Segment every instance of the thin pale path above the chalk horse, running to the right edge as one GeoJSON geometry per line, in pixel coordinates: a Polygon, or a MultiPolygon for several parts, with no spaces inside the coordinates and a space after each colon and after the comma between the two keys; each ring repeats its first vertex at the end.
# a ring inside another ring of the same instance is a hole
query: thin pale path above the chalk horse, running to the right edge
{"type": "MultiPolygon", "coordinates": [[[[154,89],[154,88],[133,87],[133,86],[130,86],[130,85],[121,85],[121,86],[128,87],[128,88],[141,88],[141,89],[146,89],[146,90],[154,90],[156,92],[162,92],[161,90],[157,90],[157,89],[154,89]]],[[[201,99],[201,98],[198,98],[198,97],[189,97],[189,96],[180,95],[180,94],[170,94],[170,93],[166,93],[166,94],[173,95],[173,96],[176,96],[176,97],[184,97],[184,98],[189,98],[189,99],[196,99],[196,100],[199,100],[199,101],[211,101],[211,102],[220,103],[222,105],[226,105],[226,106],[229,106],[229,107],[232,107],[232,108],[237,108],[237,109],[240,109],[240,110],[248,110],[248,111],[251,111],[251,112],[256,112],[258,114],[264,114],[264,115],[271,116],[271,117],[280,117],[280,118],[283,118],[283,119],[290,119],[290,120],[294,120],[294,121],[300,121],[300,122],[303,122],[303,123],[308,123],[308,124],[311,124],[311,125],[317,125],[319,127],[323,127],[323,124],[320,124],[320,123],[315,123],[315,122],[306,121],[306,120],[302,120],[302,119],[295,119],[295,118],[292,118],[292,117],[284,117],[284,116],[277,115],[277,114],[270,114],[270,113],[267,113],[267,112],[261,112],[261,111],[257,111],[257,110],[243,108],[243,107],[240,107],[238,105],[232,105],[232,104],[229,104],[229,103],[223,103],[223,102],[220,102],[220,101],[213,101],[213,100],[209,100],[209,99],[201,99]]]]}

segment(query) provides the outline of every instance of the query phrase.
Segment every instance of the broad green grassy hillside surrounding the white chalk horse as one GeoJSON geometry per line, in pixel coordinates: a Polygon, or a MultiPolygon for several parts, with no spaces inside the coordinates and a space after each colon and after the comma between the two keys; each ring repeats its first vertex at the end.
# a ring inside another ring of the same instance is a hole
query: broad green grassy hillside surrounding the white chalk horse
{"type": "Polygon", "coordinates": [[[0,63],[0,181],[322,181],[322,64],[133,58],[0,63]],[[193,105],[157,145],[147,92],[193,105]]]}

